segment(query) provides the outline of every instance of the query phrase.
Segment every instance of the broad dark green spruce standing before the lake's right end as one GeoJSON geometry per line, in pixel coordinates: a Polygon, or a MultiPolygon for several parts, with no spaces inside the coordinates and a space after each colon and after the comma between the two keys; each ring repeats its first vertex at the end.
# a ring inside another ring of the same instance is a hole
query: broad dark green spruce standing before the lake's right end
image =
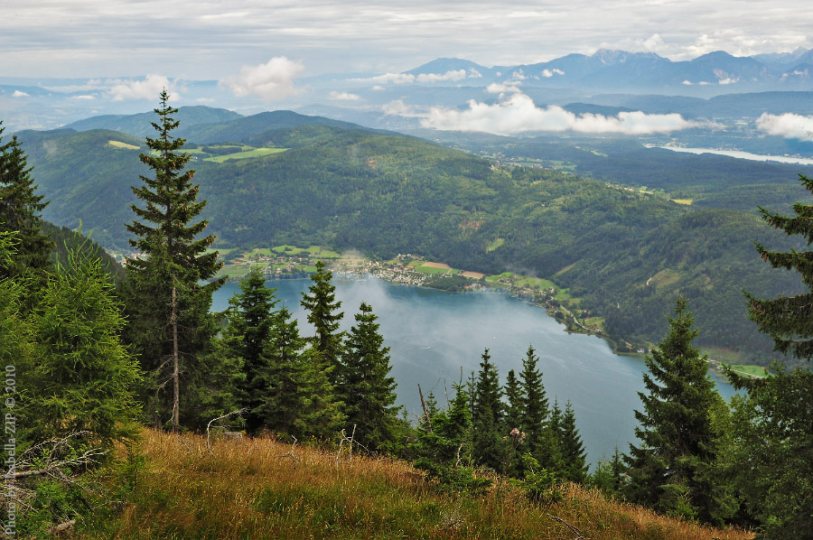
{"type": "Polygon", "coordinates": [[[667,337],[646,358],[640,392],[643,411],[635,411],[640,445],[625,456],[629,497],[669,515],[719,521],[721,503],[711,480],[718,435],[711,410],[721,399],[708,376],[708,361],[692,346],[694,319],[679,298],[667,337]]]}

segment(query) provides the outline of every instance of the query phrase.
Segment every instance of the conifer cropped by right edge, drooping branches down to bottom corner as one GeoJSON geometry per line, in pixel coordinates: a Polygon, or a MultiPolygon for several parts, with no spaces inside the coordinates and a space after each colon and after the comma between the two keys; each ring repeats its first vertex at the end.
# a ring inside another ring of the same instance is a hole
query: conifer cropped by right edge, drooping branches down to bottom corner
{"type": "MultiPolygon", "coordinates": [[[[799,181],[813,192],[813,179],[799,174],[799,181]]],[[[787,235],[800,235],[813,244],[813,205],[798,202],[794,216],[760,208],[762,218],[787,235]]],[[[749,312],[759,330],[771,336],[774,349],[807,361],[792,371],[774,366],[774,377],[746,379],[729,372],[734,386],[747,390],[735,407],[739,455],[734,470],[745,503],[762,521],[761,537],[813,537],[813,251],[770,251],[757,245],[762,259],[774,268],[795,270],[808,291],[770,300],[746,295],[749,312]]]]}

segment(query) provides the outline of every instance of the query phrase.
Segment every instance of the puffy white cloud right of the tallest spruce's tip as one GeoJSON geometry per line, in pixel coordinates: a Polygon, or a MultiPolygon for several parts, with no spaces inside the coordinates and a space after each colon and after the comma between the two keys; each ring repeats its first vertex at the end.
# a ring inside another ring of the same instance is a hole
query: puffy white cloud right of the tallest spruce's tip
{"type": "Polygon", "coordinates": [[[220,84],[229,88],[238,98],[259,96],[272,101],[288,98],[303,92],[294,87],[294,79],[304,73],[301,62],[292,61],[285,56],[275,56],[265,64],[243,66],[237,77],[227,77],[220,84]]]}

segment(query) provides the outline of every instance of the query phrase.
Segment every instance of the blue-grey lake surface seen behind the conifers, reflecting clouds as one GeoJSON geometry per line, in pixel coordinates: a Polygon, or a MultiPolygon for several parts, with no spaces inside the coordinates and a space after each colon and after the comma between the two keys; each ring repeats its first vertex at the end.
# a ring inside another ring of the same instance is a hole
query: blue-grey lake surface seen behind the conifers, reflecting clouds
{"type": "MultiPolygon", "coordinates": [[[[309,279],[269,281],[280,299],[299,321],[307,336],[313,327],[299,301],[309,279]]],[[[342,330],[349,330],[360,303],[369,303],[378,315],[384,343],[390,348],[392,375],[397,382],[397,403],[410,418],[420,413],[417,385],[431,390],[445,405],[452,384],[480,368],[483,349],[500,369],[505,382],[509,369],[519,375],[528,345],[537,349],[538,367],[550,404],[573,404],[576,425],[588,452],[588,461],[612,456],[615,446],[629,452],[636,425],[633,410],[641,407],[644,390],[639,358],[612,353],[604,340],[568,334],[564,326],[536,306],[500,293],[441,293],[431,289],[389,284],[376,278],[341,279],[334,276],[336,296],[344,312],[342,330]]],[[[215,293],[213,309],[224,310],[239,285],[229,282],[215,293]]],[[[664,332],[667,322],[664,321],[664,332]]],[[[734,394],[728,383],[717,380],[726,398],[734,394]]]]}

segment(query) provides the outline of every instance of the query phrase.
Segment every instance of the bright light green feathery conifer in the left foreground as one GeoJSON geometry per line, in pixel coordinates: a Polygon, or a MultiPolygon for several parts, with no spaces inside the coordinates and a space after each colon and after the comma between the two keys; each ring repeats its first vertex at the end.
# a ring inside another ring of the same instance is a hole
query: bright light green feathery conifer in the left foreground
{"type": "Polygon", "coordinates": [[[125,321],[98,259],[71,256],[48,280],[31,321],[35,359],[23,401],[31,436],[88,431],[109,444],[128,433],[141,376],[119,339],[125,321]]]}

